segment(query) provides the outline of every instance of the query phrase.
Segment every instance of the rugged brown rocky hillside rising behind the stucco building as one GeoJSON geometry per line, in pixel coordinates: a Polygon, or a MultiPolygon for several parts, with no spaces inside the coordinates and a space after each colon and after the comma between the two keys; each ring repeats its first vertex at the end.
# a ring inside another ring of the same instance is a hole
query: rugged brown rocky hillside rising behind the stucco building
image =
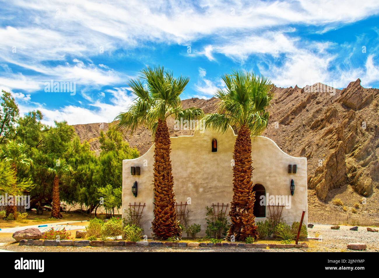
{"type": "MultiPolygon", "coordinates": [[[[321,83],[299,88],[274,87],[268,128],[262,134],[292,156],[308,159],[309,222],[379,226],[379,89],[365,89],[360,79],[343,90],[321,83]],[[334,205],[338,198],[343,206],[334,205]]],[[[218,99],[191,98],[183,107],[216,111],[218,99]]],[[[174,130],[171,136],[189,135],[174,130]]],[[[78,124],[75,131],[99,153],[100,130],[107,123],[78,124]]],[[[151,134],[139,128],[125,140],[144,154],[151,134]]]]}

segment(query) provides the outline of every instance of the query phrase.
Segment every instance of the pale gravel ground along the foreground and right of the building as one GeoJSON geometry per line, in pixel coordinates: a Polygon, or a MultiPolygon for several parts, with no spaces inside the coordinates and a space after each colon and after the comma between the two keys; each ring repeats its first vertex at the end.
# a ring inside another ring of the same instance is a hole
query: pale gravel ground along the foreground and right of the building
{"type": "Polygon", "coordinates": [[[359,227],[358,231],[350,231],[352,226],[340,225],[340,230],[331,230],[331,225],[315,224],[308,229],[309,237],[322,237],[322,241],[309,240],[309,248],[290,249],[258,249],[244,247],[47,247],[47,246],[20,246],[13,238],[2,239],[5,243],[0,248],[15,252],[362,252],[346,249],[351,242],[362,242],[367,245],[365,252],[379,251],[379,233],[368,232],[366,227],[359,227]]]}

